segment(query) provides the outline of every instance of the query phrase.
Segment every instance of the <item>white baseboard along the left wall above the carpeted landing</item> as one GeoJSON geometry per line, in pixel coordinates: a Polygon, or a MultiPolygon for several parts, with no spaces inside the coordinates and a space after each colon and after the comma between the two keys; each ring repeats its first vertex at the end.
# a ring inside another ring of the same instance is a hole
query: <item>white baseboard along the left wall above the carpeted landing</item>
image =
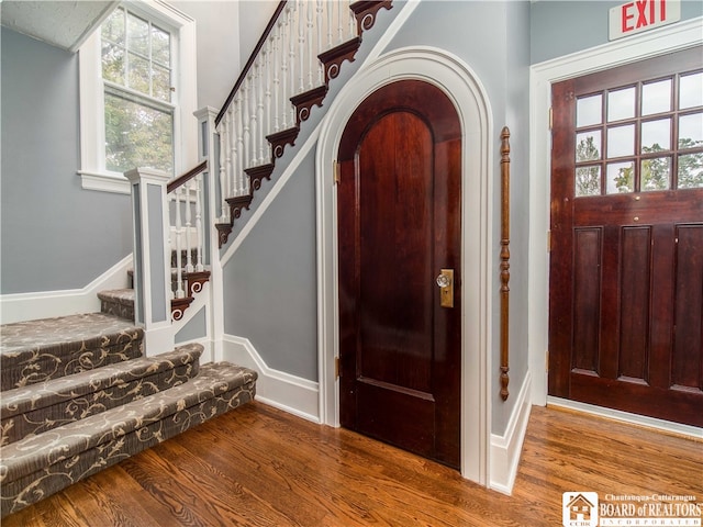
{"type": "Polygon", "coordinates": [[[100,311],[98,292],[127,287],[132,255],[108,269],[82,289],[37,291],[0,295],[0,324],[100,311]]]}

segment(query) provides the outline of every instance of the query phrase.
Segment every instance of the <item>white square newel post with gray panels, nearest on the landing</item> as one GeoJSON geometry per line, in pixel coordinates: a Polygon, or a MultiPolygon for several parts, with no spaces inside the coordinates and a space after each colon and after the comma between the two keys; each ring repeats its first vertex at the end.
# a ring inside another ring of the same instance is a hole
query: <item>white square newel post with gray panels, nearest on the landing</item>
{"type": "Polygon", "coordinates": [[[170,176],[150,168],[124,173],[132,190],[134,319],[144,326],[145,355],[174,349],[170,249],[166,186],[170,176]]]}

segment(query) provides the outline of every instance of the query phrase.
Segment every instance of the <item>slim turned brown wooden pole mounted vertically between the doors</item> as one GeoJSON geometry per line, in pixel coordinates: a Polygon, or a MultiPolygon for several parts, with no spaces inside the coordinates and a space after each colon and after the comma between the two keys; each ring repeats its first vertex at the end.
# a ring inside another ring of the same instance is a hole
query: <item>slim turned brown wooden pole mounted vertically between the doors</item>
{"type": "Polygon", "coordinates": [[[510,288],[510,130],[501,132],[501,397],[507,400],[510,288]]]}

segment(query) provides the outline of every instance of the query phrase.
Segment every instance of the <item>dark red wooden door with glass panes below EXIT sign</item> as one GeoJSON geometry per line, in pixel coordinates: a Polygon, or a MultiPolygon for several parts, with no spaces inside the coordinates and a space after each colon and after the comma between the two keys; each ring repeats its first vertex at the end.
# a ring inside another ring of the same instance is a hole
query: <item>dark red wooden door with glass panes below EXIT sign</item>
{"type": "Polygon", "coordinates": [[[703,426],[701,57],[553,87],[551,395],[703,426]]]}

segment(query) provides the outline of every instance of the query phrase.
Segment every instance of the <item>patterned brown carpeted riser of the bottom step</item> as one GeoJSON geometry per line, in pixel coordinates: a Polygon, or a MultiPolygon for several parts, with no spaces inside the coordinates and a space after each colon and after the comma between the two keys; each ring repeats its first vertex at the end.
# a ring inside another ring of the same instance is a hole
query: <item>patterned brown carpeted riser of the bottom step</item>
{"type": "Polygon", "coordinates": [[[53,457],[51,464],[15,481],[2,481],[1,517],[18,512],[67,486],[150,448],[205,421],[236,408],[255,395],[254,381],[180,410],[124,436],[68,457],[53,457]]]}

